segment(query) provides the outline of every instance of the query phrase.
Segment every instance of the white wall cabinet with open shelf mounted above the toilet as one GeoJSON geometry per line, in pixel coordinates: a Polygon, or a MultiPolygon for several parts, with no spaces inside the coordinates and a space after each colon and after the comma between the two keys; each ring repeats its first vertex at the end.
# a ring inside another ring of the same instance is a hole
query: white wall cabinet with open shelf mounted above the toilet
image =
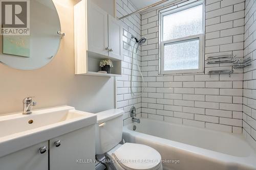
{"type": "Polygon", "coordinates": [[[121,76],[122,23],[91,0],[74,6],[75,73],[93,76],[121,76]],[[111,59],[111,74],[98,73],[99,62],[111,59]]]}

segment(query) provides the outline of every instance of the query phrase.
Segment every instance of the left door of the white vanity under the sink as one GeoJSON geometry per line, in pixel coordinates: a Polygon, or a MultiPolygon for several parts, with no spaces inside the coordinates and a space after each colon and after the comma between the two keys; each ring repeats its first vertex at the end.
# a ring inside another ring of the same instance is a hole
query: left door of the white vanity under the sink
{"type": "Polygon", "coordinates": [[[48,141],[17,151],[0,158],[1,170],[48,170],[48,150],[39,153],[42,147],[48,148],[48,141]]]}

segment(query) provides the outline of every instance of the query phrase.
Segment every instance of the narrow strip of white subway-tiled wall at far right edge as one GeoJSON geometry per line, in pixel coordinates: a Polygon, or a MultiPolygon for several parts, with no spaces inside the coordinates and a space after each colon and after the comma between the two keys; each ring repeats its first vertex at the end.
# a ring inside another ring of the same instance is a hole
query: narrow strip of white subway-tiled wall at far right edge
{"type": "MultiPolygon", "coordinates": [[[[256,149],[256,1],[245,1],[244,58],[251,65],[244,68],[243,134],[256,149]]],[[[241,101],[240,101],[241,102],[241,101]]]]}

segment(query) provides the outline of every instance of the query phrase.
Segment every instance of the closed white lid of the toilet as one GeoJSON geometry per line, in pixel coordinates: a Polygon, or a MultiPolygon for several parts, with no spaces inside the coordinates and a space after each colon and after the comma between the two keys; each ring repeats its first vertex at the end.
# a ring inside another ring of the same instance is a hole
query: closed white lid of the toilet
{"type": "Polygon", "coordinates": [[[124,143],[114,154],[125,169],[154,169],[161,162],[161,155],[144,144],[124,143]]]}

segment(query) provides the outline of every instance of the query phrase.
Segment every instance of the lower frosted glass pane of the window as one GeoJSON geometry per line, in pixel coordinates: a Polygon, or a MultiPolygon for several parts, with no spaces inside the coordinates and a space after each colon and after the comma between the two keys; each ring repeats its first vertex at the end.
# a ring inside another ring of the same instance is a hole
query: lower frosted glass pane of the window
{"type": "Polygon", "coordinates": [[[164,45],[164,70],[199,69],[199,38],[164,45]]]}

